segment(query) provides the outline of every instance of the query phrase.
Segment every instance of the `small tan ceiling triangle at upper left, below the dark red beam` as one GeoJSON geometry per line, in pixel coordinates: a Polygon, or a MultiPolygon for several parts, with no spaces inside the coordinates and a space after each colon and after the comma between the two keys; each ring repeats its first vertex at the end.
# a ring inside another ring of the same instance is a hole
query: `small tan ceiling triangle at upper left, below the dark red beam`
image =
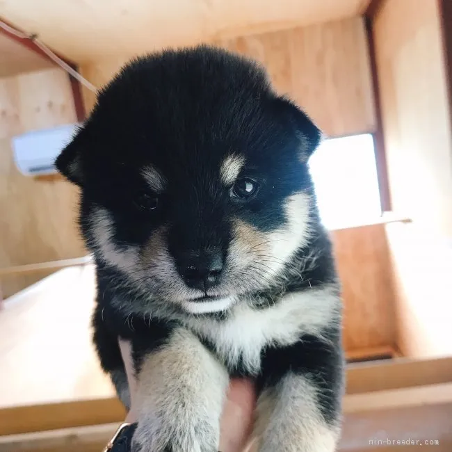
{"type": "Polygon", "coordinates": [[[0,77],[52,66],[51,61],[0,33],[0,77]]]}

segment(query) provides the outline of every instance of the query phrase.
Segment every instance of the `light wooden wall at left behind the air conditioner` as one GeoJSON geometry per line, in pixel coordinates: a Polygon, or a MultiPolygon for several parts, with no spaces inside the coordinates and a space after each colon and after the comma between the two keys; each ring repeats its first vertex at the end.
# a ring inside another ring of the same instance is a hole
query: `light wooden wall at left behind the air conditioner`
{"type": "MultiPolygon", "coordinates": [[[[65,181],[36,181],[19,173],[11,137],[76,122],[72,90],[59,69],[0,79],[0,267],[78,257],[76,189],[65,181]]],[[[3,297],[45,274],[5,277],[3,297]]]]}

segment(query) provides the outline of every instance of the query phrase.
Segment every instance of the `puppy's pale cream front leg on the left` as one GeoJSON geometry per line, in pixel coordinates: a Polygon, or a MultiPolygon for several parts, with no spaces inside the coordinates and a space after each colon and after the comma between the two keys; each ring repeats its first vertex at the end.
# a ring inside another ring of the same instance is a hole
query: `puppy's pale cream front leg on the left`
{"type": "Polygon", "coordinates": [[[143,360],[134,452],[218,452],[229,378],[197,337],[177,330],[143,360]]]}

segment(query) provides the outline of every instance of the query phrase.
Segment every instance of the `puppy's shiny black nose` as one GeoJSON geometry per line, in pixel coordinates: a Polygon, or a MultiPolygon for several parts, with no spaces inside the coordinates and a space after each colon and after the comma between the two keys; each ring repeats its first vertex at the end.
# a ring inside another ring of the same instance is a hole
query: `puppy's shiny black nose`
{"type": "Polygon", "coordinates": [[[183,252],[179,255],[178,268],[188,287],[206,292],[220,282],[223,255],[220,250],[183,252]]]}

